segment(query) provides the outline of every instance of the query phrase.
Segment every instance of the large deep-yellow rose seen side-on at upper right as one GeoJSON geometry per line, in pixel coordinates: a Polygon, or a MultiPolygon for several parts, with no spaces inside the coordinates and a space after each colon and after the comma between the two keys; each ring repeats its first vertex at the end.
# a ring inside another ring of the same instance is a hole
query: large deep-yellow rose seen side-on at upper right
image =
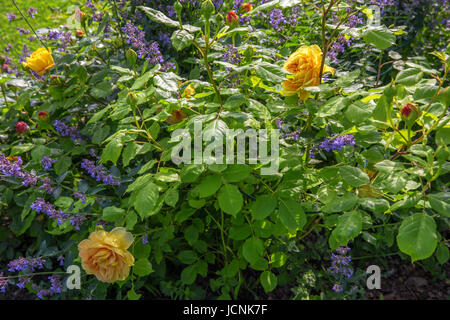
{"type": "MultiPolygon", "coordinates": [[[[309,97],[309,92],[304,87],[318,86],[320,84],[319,73],[322,63],[322,50],[317,45],[301,46],[284,63],[283,69],[289,71],[288,80],[283,81],[283,93],[285,96],[298,94],[301,100],[309,97]]],[[[323,72],[334,74],[336,70],[324,65],[323,72]]]]}

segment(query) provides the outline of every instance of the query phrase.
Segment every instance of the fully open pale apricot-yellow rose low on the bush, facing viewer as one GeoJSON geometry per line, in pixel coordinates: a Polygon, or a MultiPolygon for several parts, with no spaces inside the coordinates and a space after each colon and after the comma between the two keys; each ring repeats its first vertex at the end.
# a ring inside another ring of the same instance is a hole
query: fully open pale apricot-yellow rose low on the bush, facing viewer
{"type": "Polygon", "coordinates": [[[127,250],[133,241],[133,235],[125,228],[92,232],[78,244],[83,269],[102,282],[125,280],[134,265],[134,257],[127,250]]]}

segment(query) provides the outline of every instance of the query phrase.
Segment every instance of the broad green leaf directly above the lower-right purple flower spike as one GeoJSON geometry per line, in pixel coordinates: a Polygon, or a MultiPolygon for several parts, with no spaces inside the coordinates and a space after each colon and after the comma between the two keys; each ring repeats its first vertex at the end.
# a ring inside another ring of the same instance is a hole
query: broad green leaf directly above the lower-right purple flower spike
{"type": "Polygon", "coordinates": [[[350,240],[356,238],[362,231],[362,216],[359,211],[346,212],[339,216],[332,235],[336,241],[346,246],[350,240]]]}

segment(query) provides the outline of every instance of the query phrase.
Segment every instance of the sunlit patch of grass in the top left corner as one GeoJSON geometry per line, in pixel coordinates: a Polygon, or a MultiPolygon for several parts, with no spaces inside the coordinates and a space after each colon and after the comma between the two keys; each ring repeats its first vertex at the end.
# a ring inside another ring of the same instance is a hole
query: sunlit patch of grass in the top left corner
{"type": "MultiPolygon", "coordinates": [[[[22,13],[27,17],[35,30],[39,28],[55,28],[64,23],[67,17],[66,10],[69,6],[76,4],[75,0],[16,0],[22,13]],[[29,8],[36,8],[37,14],[33,19],[26,13],[29,8]]],[[[29,41],[33,35],[19,35],[17,27],[30,29],[26,21],[21,17],[11,0],[0,0],[0,55],[8,54],[14,62],[18,62],[22,46],[26,44],[31,51],[42,45],[39,41],[29,41]],[[7,13],[14,13],[16,19],[8,21],[7,13]],[[4,51],[7,44],[13,46],[9,53],[4,51]]]]}

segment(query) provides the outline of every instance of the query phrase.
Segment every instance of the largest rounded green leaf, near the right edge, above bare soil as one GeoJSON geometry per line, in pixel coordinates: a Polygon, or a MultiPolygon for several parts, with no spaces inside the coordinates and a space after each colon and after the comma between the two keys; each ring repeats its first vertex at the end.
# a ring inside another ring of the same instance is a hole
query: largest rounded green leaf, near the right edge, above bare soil
{"type": "Polygon", "coordinates": [[[430,257],[437,246],[436,222],[423,213],[407,217],[400,225],[397,245],[412,262],[430,257]]]}

